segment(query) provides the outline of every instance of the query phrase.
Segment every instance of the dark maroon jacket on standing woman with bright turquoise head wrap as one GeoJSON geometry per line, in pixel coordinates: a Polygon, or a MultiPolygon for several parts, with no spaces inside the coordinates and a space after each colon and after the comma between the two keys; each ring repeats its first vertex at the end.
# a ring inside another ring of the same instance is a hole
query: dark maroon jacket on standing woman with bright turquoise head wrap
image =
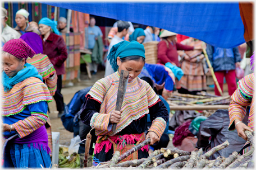
{"type": "Polygon", "coordinates": [[[57,75],[65,74],[64,62],[67,59],[67,48],[62,36],[51,33],[47,40],[43,40],[43,54],[48,55],[57,75]]]}

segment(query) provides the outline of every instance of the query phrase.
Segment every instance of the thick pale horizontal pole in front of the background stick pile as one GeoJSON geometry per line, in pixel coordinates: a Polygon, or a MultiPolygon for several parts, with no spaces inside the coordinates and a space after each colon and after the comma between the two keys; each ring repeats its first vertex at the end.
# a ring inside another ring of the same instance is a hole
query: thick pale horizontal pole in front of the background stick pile
{"type": "Polygon", "coordinates": [[[195,106],[171,106],[170,110],[218,110],[218,109],[228,109],[228,105],[195,105],[195,106]]]}

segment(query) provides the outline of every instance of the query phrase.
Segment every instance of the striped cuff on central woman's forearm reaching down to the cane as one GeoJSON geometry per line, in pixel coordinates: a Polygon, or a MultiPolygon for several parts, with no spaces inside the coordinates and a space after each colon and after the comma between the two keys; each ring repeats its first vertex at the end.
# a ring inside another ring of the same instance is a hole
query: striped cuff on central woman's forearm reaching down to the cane
{"type": "Polygon", "coordinates": [[[166,121],[162,117],[157,117],[153,120],[152,125],[148,131],[153,131],[161,138],[164,129],[166,128],[166,121]]]}

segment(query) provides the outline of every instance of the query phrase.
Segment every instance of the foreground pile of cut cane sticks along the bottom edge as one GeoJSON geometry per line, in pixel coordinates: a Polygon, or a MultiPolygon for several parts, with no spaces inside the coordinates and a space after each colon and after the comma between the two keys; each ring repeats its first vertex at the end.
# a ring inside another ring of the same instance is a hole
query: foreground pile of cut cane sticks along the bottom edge
{"type": "Polygon", "coordinates": [[[253,154],[254,154],[254,136],[252,132],[245,131],[248,140],[250,141],[250,145],[252,148],[249,152],[239,155],[237,152],[233,152],[228,158],[218,157],[216,160],[208,160],[211,155],[216,153],[217,151],[228,147],[228,141],[225,141],[223,144],[218,145],[217,147],[212,148],[207,153],[203,154],[203,150],[199,149],[193,152],[186,152],[183,150],[179,150],[177,148],[167,149],[161,148],[159,150],[155,150],[148,158],[136,159],[136,160],[127,160],[126,162],[121,162],[121,160],[125,159],[139,150],[142,145],[150,143],[150,139],[144,141],[142,145],[139,145],[138,148],[134,147],[134,149],[130,149],[129,152],[120,155],[120,152],[116,152],[113,155],[113,158],[109,162],[100,163],[97,168],[124,168],[124,167],[136,167],[139,169],[144,168],[153,168],[153,169],[230,169],[230,168],[254,168],[253,154]]]}

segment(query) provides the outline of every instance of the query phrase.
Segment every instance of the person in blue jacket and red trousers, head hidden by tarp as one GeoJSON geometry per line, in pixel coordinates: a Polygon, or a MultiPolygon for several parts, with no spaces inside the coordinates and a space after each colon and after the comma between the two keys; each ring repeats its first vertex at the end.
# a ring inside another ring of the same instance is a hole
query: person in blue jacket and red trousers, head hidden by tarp
{"type": "MultiPolygon", "coordinates": [[[[231,96],[236,91],[236,67],[240,67],[241,55],[238,47],[223,49],[207,44],[207,54],[212,64],[214,74],[223,91],[223,78],[226,78],[228,94],[231,96]]],[[[221,96],[217,87],[214,87],[215,95],[221,96]]]]}

